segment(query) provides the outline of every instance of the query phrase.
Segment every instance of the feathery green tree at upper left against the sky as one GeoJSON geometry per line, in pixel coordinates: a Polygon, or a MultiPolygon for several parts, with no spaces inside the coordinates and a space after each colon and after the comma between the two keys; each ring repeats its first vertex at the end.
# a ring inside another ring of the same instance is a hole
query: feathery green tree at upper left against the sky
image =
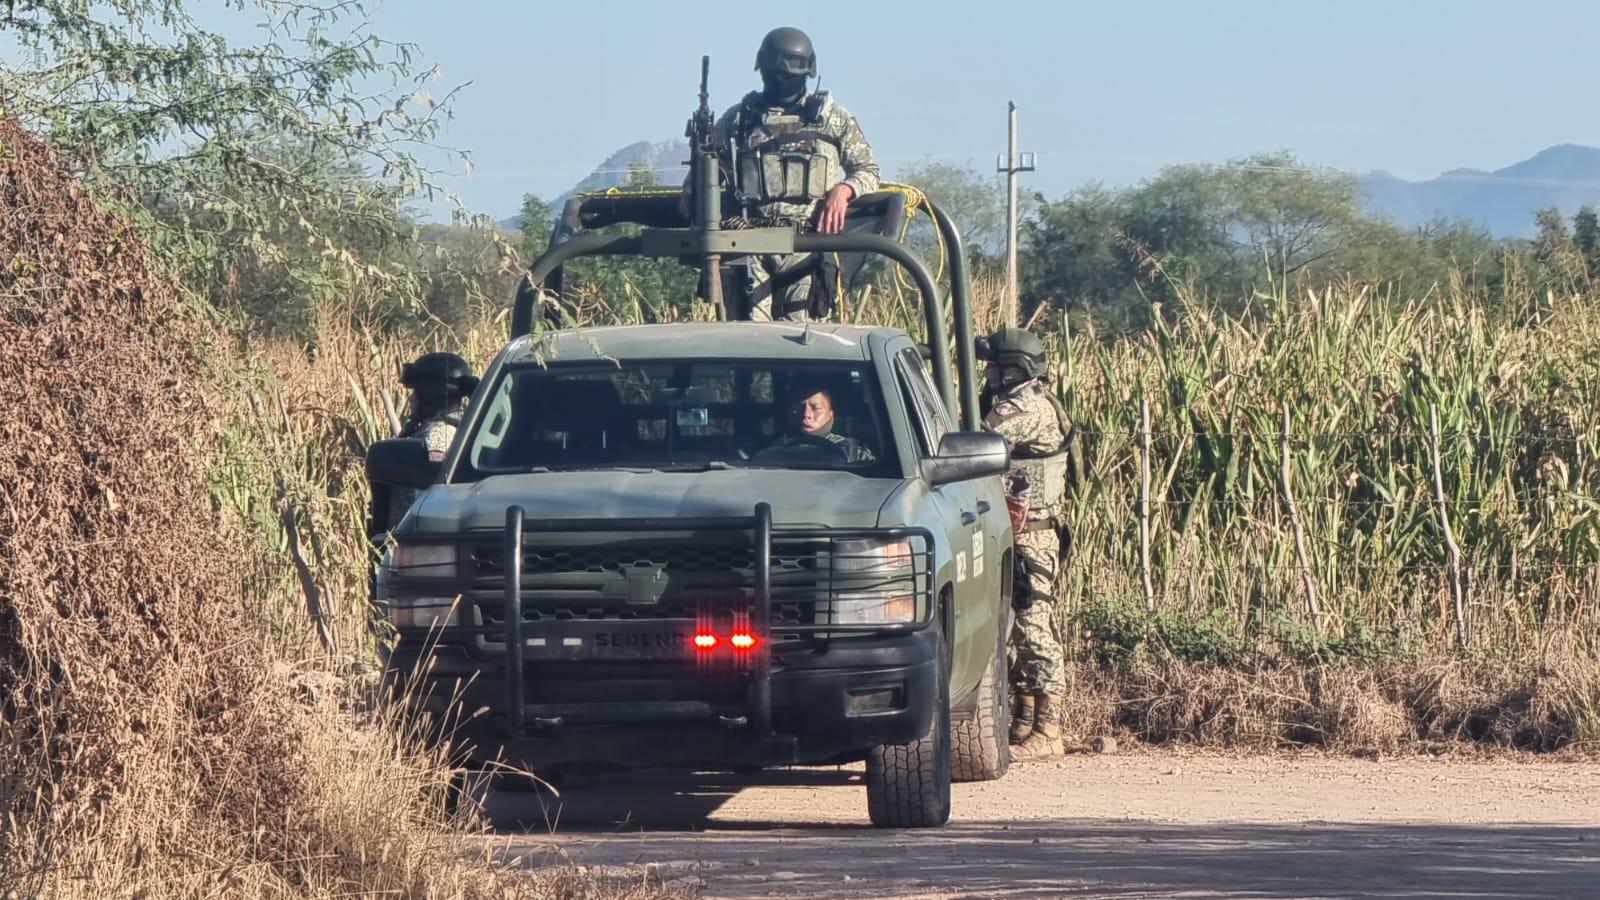
{"type": "Polygon", "coordinates": [[[365,30],[360,2],[227,16],[261,37],[232,43],[182,0],[11,3],[5,114],[72,149],[195,293],[256,323],[298,331],[330,298],[419,304],[405,208],[442,191],[418,157],[438,149],[450,94],[429,93],[413,45],[365,30]]]}

